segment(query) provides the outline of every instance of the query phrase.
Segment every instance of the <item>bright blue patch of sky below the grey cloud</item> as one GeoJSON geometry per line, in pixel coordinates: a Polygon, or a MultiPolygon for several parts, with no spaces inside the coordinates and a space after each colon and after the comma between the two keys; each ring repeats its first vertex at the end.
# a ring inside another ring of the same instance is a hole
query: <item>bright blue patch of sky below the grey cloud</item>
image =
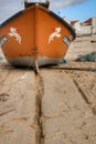
{"type": "Polygon", "coordinates": [[[87,0],[66,7],[60,11],[56,10],[55,12],[60,12],[61,17],[66,17],[68,20],[79,20],[83,22],[88,18],[96,17],[96,0],[87,0]]]}

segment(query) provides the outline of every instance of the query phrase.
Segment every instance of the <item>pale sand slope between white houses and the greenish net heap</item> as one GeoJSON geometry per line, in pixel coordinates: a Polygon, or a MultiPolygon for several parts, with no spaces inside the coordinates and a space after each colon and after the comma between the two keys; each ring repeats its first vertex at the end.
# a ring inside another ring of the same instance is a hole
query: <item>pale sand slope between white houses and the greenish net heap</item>
{"type": "Polygon", "coordinates": [[[75,60],[79,54],[96,52],[96,42],[92,43],[92,40],[96,41],[96,37],[76,38],[76,40],[71,44],[65,59],[75,60]]]}

